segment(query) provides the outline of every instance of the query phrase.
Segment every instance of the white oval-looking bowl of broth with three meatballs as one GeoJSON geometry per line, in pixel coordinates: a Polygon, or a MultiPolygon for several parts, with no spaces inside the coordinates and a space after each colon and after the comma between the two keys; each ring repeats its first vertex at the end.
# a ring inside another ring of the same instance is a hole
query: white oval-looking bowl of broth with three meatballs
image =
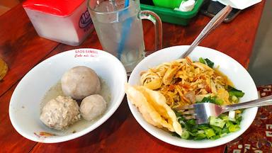
{"type": "Polygon", "coordinates": [[[113,115],[125,96],[126,82],[123,64],[108,52],[62,52],[21,79],[11,96],[11,123],[35,142],[72,140],[113,115]]]}

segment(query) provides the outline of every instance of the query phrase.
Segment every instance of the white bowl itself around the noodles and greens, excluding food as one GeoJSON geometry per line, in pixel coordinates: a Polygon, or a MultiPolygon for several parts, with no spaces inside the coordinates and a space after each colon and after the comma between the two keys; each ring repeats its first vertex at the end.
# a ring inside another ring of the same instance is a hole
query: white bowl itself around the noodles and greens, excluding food
{"type": "MultiPolygon", "coordinates": [[[[135,67],[132,74],[130,75],[128,83],[130,85],[140,85],[141,72],[147,71],[147,69],[156,67],[164,62],[171,62],[178,59],[179,56],[187,50],[187,48],[188,45],[174,46],[154,52],[152,55],[149,55],[139,64],[137,64],[137,67],[135,67]]],[[[229,80],[232,81],[235,88],[244,92],[244,96],[239,99],[239,103],[259,98],[253,79],[246,71],[246,69],[244,69],[244,67],[242,67],[239,62],[232,59],[232,57],[207,47],[196,47],[196,49],[191,52],[189,57],[193,61],[198,61],[200,57],[208,58],[215,63],[215,67],[219,66],[220,72],[225,74],[229,80]]],[[[134,105],[132,105],[131,101],[129,100],[128,105],[132,115],[135,117],[137,122],[140,123],[142,128],[147,130],[147,132],[149,132],[151,135],[171,145],[188,148],[216,147],[234,140],[235,138],[239,137],[239,135],[242,135],[242,133],[245,132],[247,128],[249,128],[258,111],[258,108],[246,109],[242,113],[243,119],[240,125],[241,129],[237,132],[231,132],[224,137],[220,137],[217,140],[183,140],[179,137],[174,137],[171,135],[171,132],[167,132],[166,130],[162,130],[155,127],[154,125],[147,123],[147,121],[142,117],[142,114],[134,105]]]]}

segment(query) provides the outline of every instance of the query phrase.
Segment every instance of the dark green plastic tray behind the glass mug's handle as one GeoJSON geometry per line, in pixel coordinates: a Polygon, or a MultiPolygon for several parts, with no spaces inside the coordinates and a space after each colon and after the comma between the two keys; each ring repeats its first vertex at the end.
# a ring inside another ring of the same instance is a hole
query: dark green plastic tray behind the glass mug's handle
{"type": "Polygon", "coordinates": [[[204,0],[196,0],[196,5],[193,10],[188,12],[175,11],[171,8],[150,6],[146,4],[141,4],[141,9],[154,11],[164,22],[187,26],[188,23],[191,21],[191,18],[196,16],[196,14],[198,13],[200,6],[203,4],[203,1],[204,0]]]}

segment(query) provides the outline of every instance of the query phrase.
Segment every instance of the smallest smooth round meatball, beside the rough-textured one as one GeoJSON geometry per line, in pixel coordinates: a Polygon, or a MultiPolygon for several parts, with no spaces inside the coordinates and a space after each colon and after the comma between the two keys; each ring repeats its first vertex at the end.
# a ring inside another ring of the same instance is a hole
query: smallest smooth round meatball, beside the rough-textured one
{"type": "Polygon", "coordinates": [[[106,111],[107,103],[98,94],[87,96],[81,101],[80,113],[85,120],[94,120],[106,111]]]}

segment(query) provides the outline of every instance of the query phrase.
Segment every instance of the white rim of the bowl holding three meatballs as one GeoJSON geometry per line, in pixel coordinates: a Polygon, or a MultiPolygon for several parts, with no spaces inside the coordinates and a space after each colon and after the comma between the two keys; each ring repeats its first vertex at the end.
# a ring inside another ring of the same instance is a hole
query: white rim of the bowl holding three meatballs
{"type": "MultiPolygon", "coordinates": [[[[53,55],[52,57],[48,57],[46,60],[43,60],[42,62],[36,64],[35,67],[30,69],[30,71],[28,73],[26,73],[26,75],[21,79],[21,81],[17,84],[16,88],[14,89],[13,94],[11,95],[11,100],[10,100],[10,103],[9,103],[9,106],[8,106],[8,115],[9,115],[9,118],[11,120],[11,125],[13,125],[13,128],[15,128],[15,130],[20,135],[22,135],[23,137],[26,137],[28,140],[33,140],[35,142],[42,142],[42,143],[56,143],[56,142],[65,142],[65,141],[68,141],[68,140],[73,140],[73,139],[75,139],[77,137],[81,137],[82,135],[86,135],[87,133],[91,132],[92,130],[95,130],[100,125],[105,123],[106,120],[108,120],[108,118],[110,118],[113,115],[113,113],[115,113],[115,111],[119,108],[120,104],[122,103],[123,98],[125,96],[125,88],[121,86],[120,89],[119,89],[121,94],[117,96],[116,103],[113,105],[113,107],[111,109],[108,110],[108,112],[106,112],[103,116],[101,116],[101,118],[96,120],[96,122],[94,122],[94,124],[91,124],[88,128],[85,128],[84,130],[81,130],[79,132],[71,133],[70,135],[61,135],[61,136],[58,136],[58,137],[47,137],[46,139],[40,139],[39,137],[34,137],[33,135],[28,135],[25,132],[23,132],[23,130],[21,130],[20,126],[16,123],[15,116],[13,115],[13,113],[12,113],[13,111],[11,110],[11,106],[12,106],[13,103],[16,103],[16,99],[14,99],[14,96],[18,92],[18,88],[21,88],[22,82],[28,76],[32,75],[33,72],[36,71],[36,69],[40,69],[40,67],[42,67],[42,65],[47,64],[48,62],[50,62],[51,60],[53,60],[55,58],[59,58],[59,57],[65,56],[65,55],[72,54],[71,52],[75,52],[76,50],[94,50],[94,51],[97,51],[98,54],[101,54],[103,56],[112,58],[121,67],[120,77],[123,77],[124,84],[128,82],[127,72],[125,71],[125,67],[120,62],[120,60],[118,60],[115,56],[113,56],[110,53],[108,53],[106,51],[103,51],[103,50],[98,50],[98,49],[94,49],[94,48],[77,48],[77,49],[74,49],[74,50],[67,50],[67,51],[64,51],[64,52],[60,52],[57,55],[53,55]]],[[[99,58],[99,57],[97,57],[97,58],[99,58]]]]}

